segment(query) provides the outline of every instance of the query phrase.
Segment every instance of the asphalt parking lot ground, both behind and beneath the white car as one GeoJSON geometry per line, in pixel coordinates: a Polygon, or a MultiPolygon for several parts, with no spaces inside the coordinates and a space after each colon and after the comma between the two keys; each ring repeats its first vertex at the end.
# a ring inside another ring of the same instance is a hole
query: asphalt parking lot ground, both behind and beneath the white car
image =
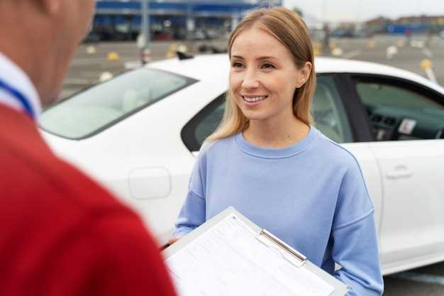
{"type": "MultiPolygon", "coordinates": [[[[444,40],[436,36],[429,39],[426,35],[413,35],[411,40],[407,40],[404,35],[376,36],[371,39],[332,39],[331,42],[335,47],[330,53],[324,52],[324,55],[379,62],[423,77],[429,77],[426,69],[421,67],[421,63],[422,66],[427,64],[424,63],[427,59],[431,62],[437,83],[444,85],[444,40]]],[[[165,59],[172,44],[180,43],[152,43],[152,60],[165,59]]],[[[194,49],[199,45],[201,42],[194,43],[194,49]]],[[[224,48],[226,42],[212,41],[211,45],[224,48]]],[[[99,82],[101,77],[118,75],[126,70],[126,63],[138,60],[139,50],[135,43],[83,44],[70,66],[61,98],[99,82]]],[[[387,296],[444,295],[444,263],[388,275],[384,277],[384,282],[384,295],[387,296]]]]}

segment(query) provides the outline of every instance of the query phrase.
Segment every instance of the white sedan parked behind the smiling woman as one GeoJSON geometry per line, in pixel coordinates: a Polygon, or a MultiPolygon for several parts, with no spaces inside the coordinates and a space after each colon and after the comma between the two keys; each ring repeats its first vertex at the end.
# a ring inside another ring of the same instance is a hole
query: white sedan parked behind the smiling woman
{"type": "MultiPolygon", "coordinates": [[[[170,236],[204,138],[221,119],[226,55],[154,62],[46,109],[43,136],[170,236]]],[[[444,89],[393,67],[316,59],[316,126],[359,161],[384,274],[444,260],[444,89]]]]}

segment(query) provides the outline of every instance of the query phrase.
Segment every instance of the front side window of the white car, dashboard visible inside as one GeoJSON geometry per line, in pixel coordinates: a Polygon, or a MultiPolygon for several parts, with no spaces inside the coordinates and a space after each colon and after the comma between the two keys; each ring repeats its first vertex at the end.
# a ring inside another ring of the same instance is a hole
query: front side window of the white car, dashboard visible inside
{"type": "Polygon", "coordinates": [[[444,138],[444,98],[409,82],[355,77],[377,141],[444,138]]]}

